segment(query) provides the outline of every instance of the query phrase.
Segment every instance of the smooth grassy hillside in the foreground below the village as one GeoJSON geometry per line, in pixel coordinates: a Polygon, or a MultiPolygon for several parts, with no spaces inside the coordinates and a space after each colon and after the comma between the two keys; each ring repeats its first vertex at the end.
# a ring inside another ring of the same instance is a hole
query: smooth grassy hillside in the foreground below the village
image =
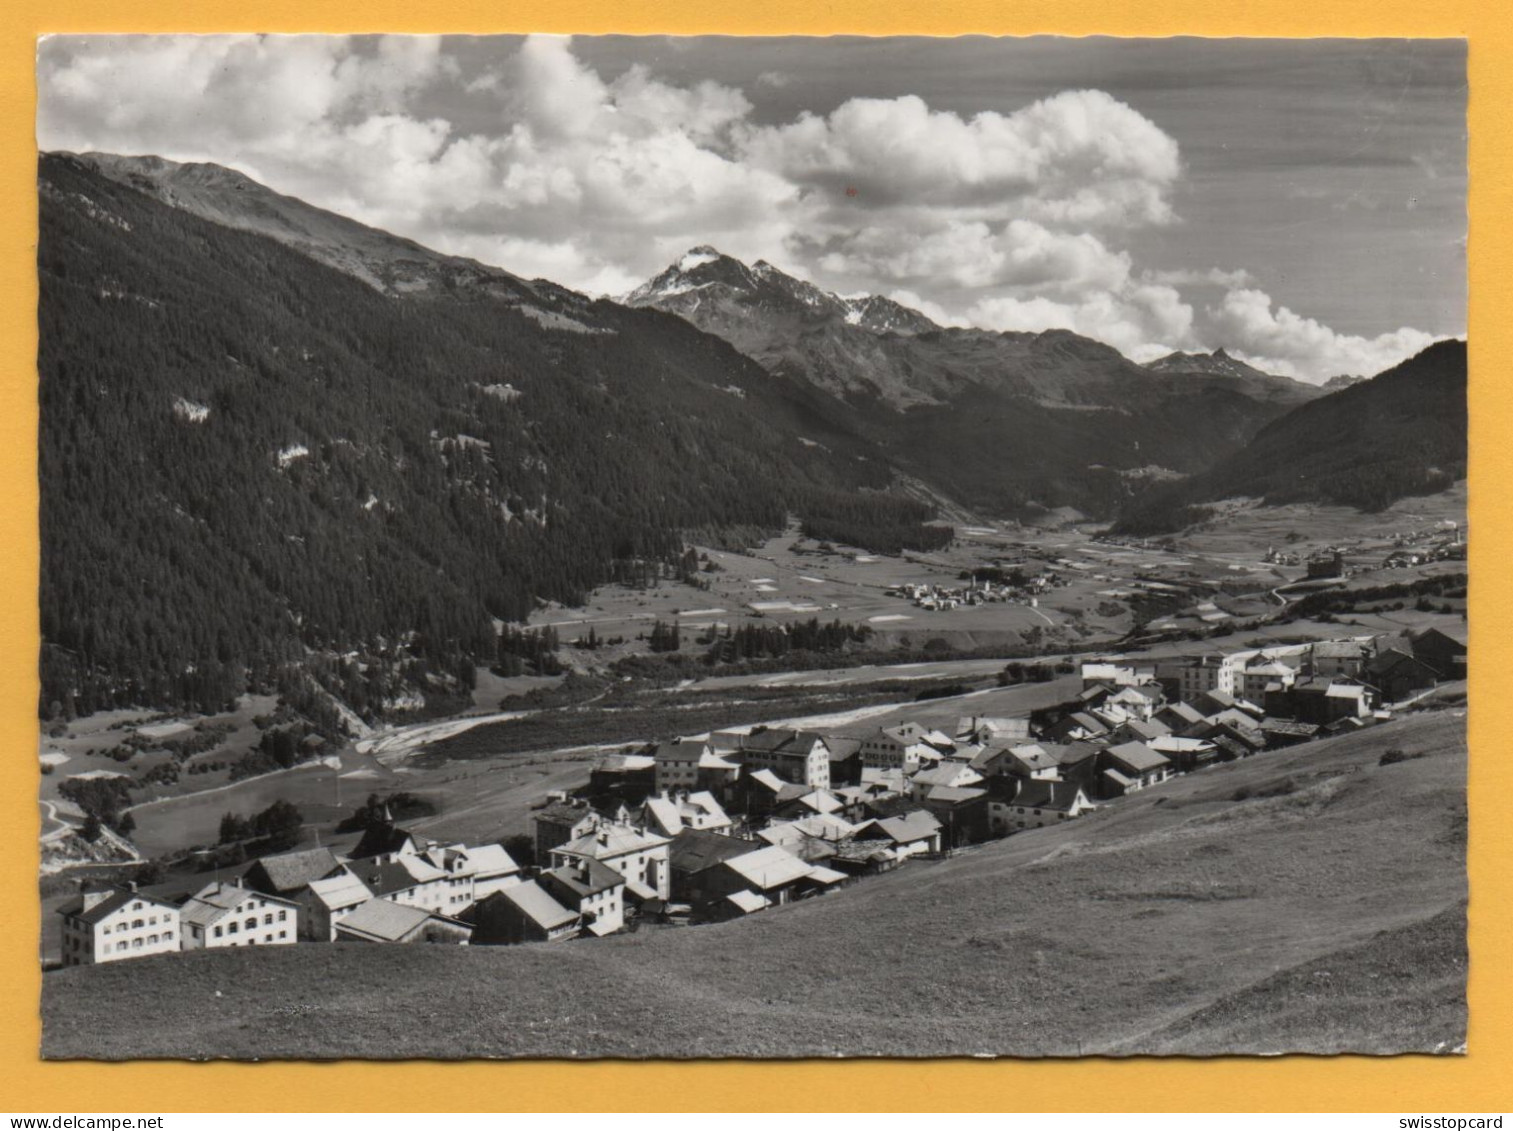
{"type": "Polygon", "coordinates": [[[1465,774],[1463,712],[1439,711],[741,922],[59,971],[42,1054],[1448,1051],[1466,1025],[1465,774]],[[1383,767],[1389,747],[1421,756],[1383,767]]]}

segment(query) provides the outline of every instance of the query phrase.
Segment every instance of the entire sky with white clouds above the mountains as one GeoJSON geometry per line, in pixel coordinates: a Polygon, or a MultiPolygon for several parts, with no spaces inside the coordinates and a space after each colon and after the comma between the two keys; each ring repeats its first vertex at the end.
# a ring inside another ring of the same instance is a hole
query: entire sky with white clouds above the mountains
{"type": "Polygon", "coordinates": [[[1304,380],[1466,330],[1460,41],[54,36],[44,150],[623,293],[711,243],[1304,380]]]}

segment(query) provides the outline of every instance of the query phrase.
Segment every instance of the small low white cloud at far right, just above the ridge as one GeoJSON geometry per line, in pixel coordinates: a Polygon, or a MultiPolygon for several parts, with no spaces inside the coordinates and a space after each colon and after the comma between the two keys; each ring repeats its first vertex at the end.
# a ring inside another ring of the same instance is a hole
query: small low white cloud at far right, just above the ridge
{"type": "Polygon", "coordinates": [[[1327,381],[1339,373],[1372,376],[1413,357],[1434,337],[1403,327],[1377,337],[1341,334],[1275,305],[1263,290],[1230,290],[1207,316],[1212,334],[1236,357],[1285,376],[1327,381]]]}

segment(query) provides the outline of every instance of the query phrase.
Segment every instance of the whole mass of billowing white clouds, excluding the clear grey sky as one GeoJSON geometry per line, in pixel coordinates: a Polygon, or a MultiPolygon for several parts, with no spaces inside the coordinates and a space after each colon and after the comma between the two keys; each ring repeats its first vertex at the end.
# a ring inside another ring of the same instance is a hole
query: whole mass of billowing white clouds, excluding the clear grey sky
{"type": "Polygon", "coordinates": [[[752,98],[797,89],[787,71],[749,91],[642,64],[605,74],[558,36],[468,73],[425,36],[54,36],[38,54],[38,135],[44,148],[227,163],[590,293],[623,293],[713,243],[890,293],[941,325],[1067,328],[1136,358],[1226,345],[1321,378],[1375,372],[1428,340],[1336,334],[1274,310],[1247,271],[1141,269],[1123,243],[1177,221],[1182,156],[1103,91],[976,115],[849,98],[772,122],[752,98]],[[1226,293],[1197,319],[1183,287],[1226,293]]]}

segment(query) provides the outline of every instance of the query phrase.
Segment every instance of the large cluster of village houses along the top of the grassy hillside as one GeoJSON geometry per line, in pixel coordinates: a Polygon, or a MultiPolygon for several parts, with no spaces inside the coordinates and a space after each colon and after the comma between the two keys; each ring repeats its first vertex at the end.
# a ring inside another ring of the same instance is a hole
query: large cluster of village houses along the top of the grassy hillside
{"type": "MultiPolygon", "coordinates": [[[[1097,820],[1177,774],[1389,724],[1466,676],[1463,626],[1088,659],[1023,717],[779,726],[601,756],[531,829],[448,844],[383,798],[348,851],[265,854],[194,891],[83,882],[62,965],[227,947],[510,945],[760,915],[985,841],[1097,820]]],[[[1389,751],[1390,753],[1390,751],[1389,751]]]]}

